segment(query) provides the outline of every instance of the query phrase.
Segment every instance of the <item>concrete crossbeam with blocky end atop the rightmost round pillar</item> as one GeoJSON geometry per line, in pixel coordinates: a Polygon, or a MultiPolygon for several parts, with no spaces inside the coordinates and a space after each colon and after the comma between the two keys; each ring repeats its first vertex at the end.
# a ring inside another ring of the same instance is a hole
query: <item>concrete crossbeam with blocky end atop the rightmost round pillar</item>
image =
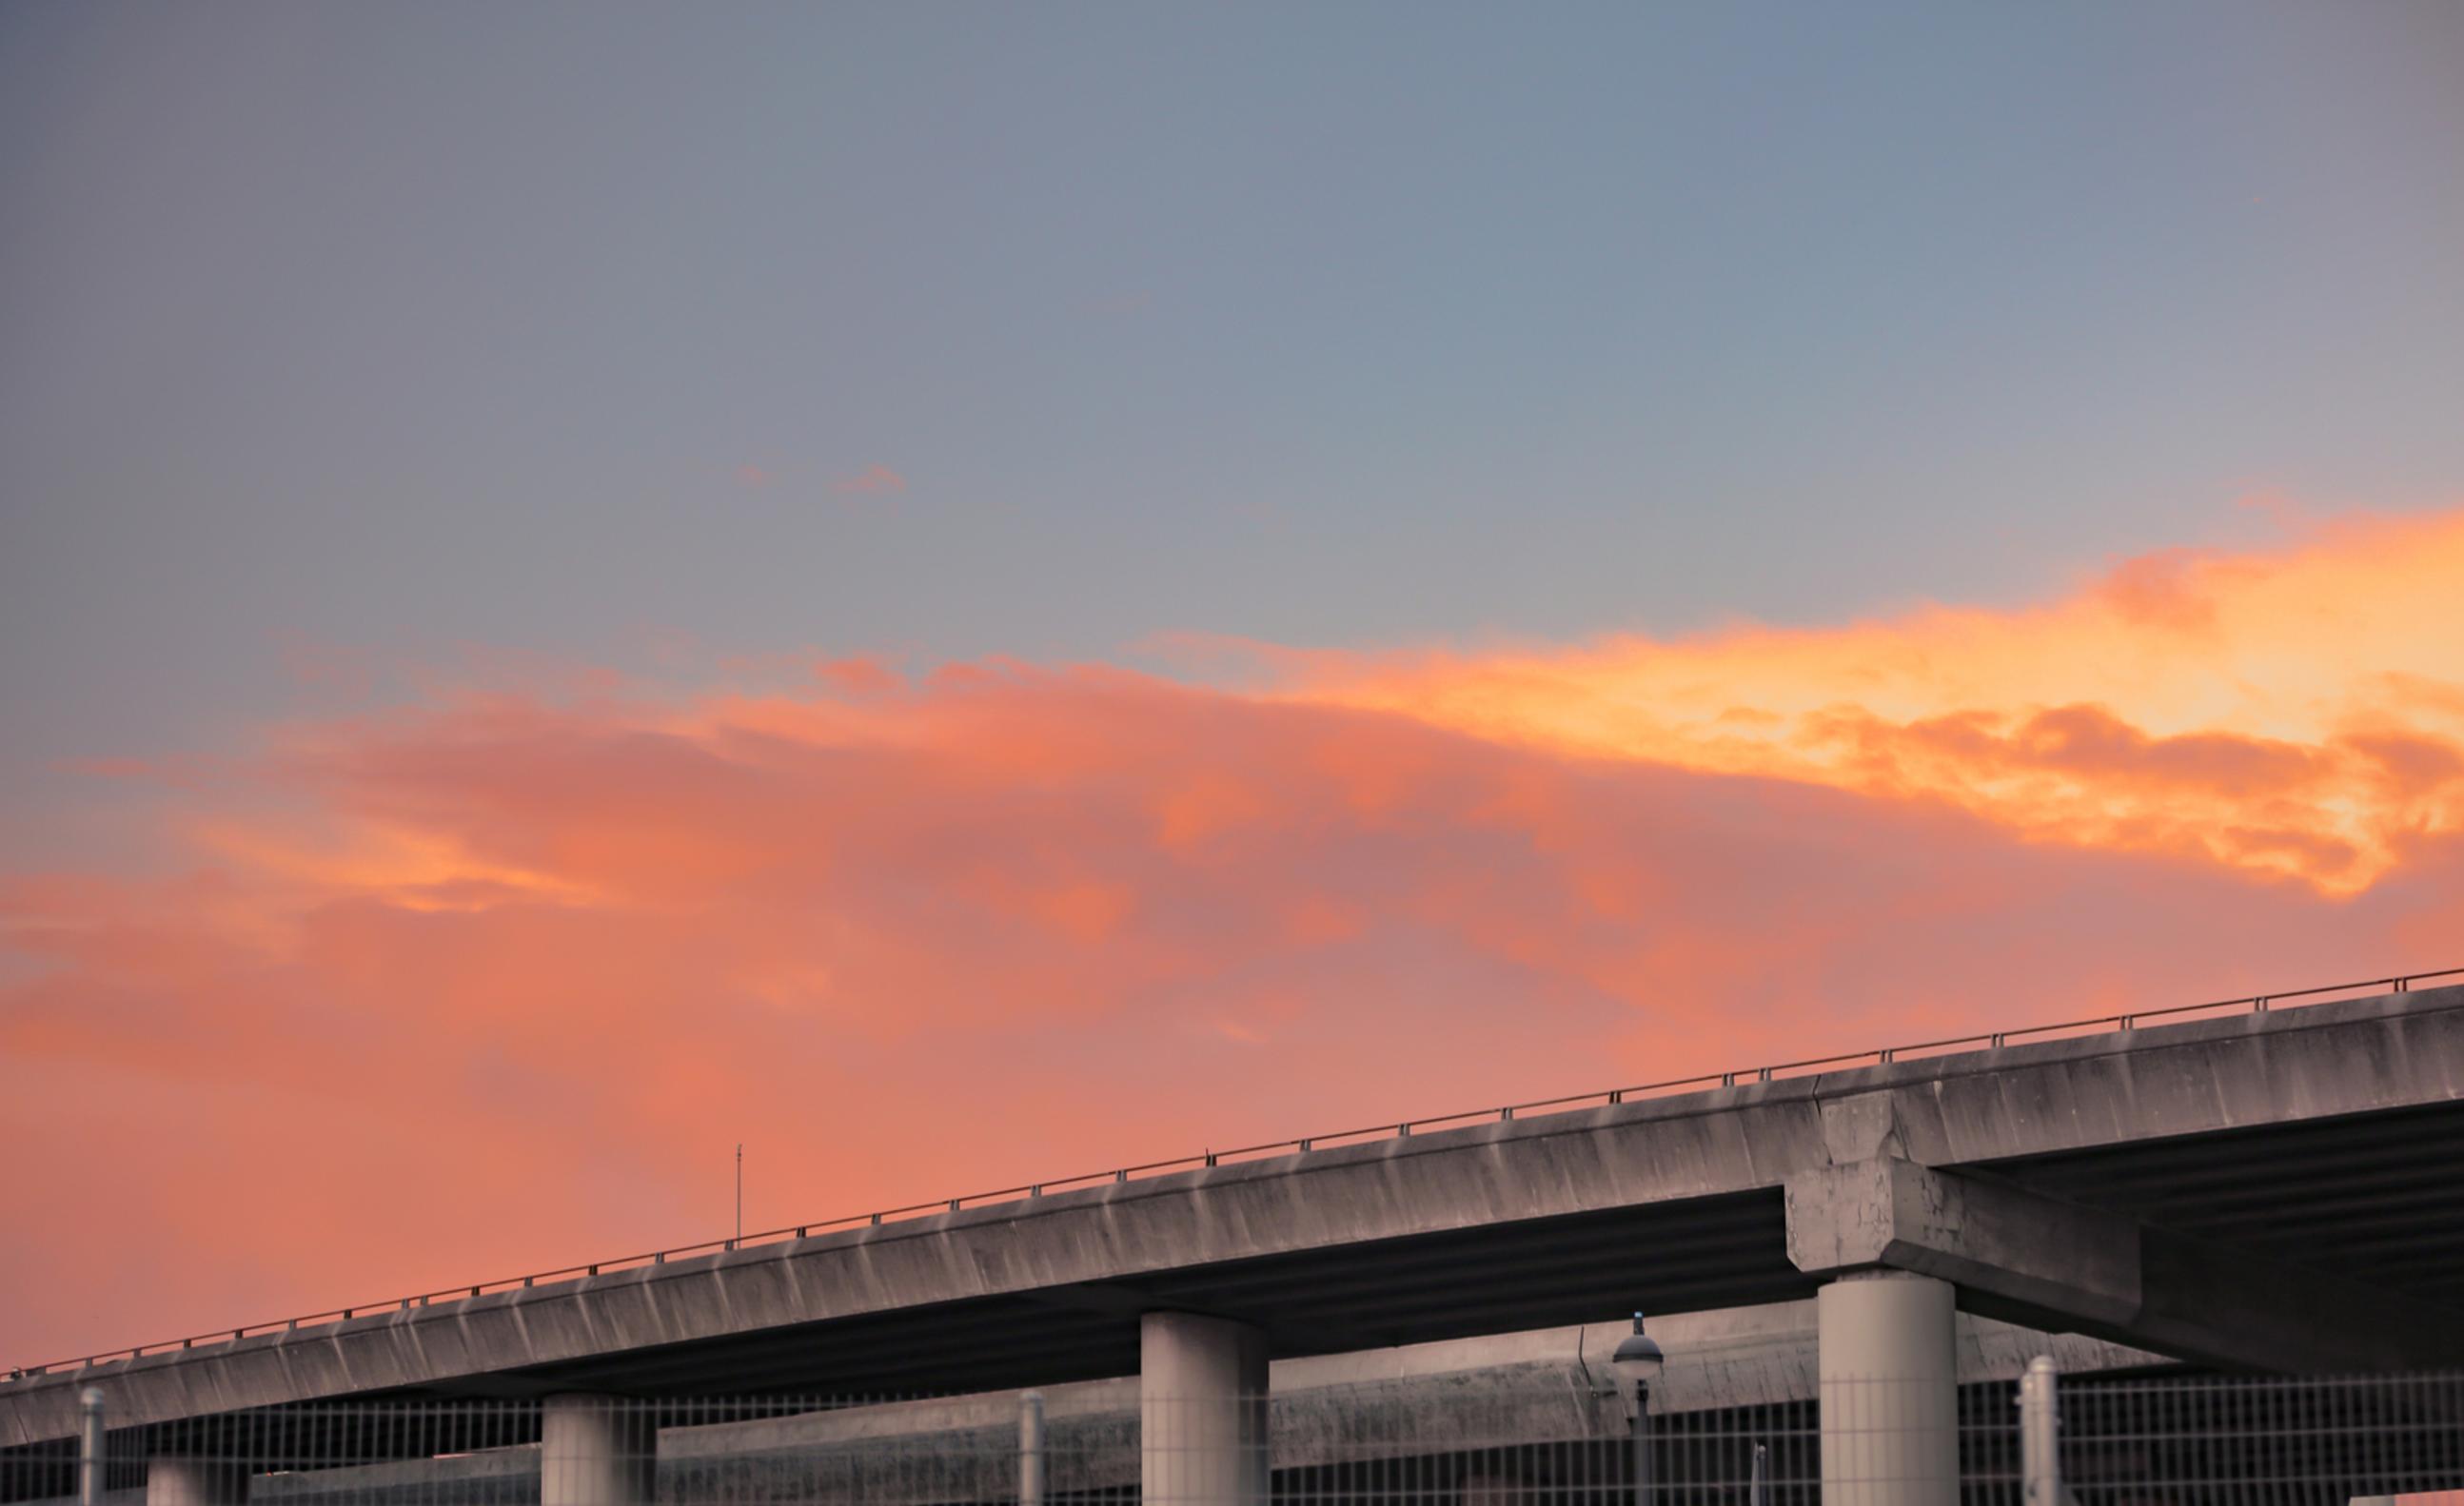
{"type": "Polygon", "coordinates": [[[1804,1272],[1902,1269],[1969,1311],[2255,1370],[2412,1370],[2464,1356],[2464,1314],[2020,1186],[1878,1156],[1789,1178],[1804,1272]]]}

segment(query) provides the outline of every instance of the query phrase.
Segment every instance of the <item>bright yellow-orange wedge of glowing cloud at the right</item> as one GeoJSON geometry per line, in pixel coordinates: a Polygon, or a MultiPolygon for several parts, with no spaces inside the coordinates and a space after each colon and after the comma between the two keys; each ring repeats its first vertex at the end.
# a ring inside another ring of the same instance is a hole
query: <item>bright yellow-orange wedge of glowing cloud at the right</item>
{"type": "Polygon", "coordinates": [[[2020,611],[1498,653],[1266,651],[1281,693],[2351,895],[2464,831],[2464,513],[2168,550],[2020,611]]]}

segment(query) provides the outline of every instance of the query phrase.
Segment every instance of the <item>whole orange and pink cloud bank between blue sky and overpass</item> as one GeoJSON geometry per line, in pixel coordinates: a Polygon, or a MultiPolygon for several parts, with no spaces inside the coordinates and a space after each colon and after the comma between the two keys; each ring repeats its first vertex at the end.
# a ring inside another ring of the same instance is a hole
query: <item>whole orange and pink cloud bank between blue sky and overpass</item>
{"type": "Polygon", "coordinates": [[[2454,966],[2464,695],[2338,584],[2442,621],[2405,527],[1264,693],[552,665],[276,730],[170,873],[0,877],[0,1358],[707,1237],[737,1141],[776,1225],[2454,966]]]}

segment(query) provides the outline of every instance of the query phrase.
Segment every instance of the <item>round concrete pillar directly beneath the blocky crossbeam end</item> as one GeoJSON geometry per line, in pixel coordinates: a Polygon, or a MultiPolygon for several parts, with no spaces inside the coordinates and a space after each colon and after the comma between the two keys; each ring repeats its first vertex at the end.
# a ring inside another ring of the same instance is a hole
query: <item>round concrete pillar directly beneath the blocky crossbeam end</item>
{"type": "Polygon", "coordinates": [[[1959,1506],[1951,1284],[1855,1272],[1814,1299],[1823,1506],[1959,1506]]]}

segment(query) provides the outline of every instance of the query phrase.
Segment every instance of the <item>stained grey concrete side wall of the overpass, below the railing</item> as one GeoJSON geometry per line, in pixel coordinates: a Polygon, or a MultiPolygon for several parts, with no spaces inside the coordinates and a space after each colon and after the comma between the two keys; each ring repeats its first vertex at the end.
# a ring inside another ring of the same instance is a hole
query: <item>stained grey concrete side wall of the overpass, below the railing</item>
{"type": "MultiPolygon", "coordinates": [[[[478,1390],[680,1343],[1722,1193],[1873,1156],[1959,1166],[2464,1102],[2464,988],[1902,1060],[1321,1149],[493,1292],[0,1383],[0,1447],[69,1437],[76,1390],[160,1422],[478,1390]]],[[[1259,1309],[1276,1294],[1262,1289],[1259,1309]]],[[[1244,1314],[1227,1314],[1244,1316],[1244,1314]]],[[[1607,1316],[1607,1314],[1602,1314],[1607,1316]]],[[[929,1324],[936,1319],[917,1319],[929,1324]]],[[[1089,1319],[1096,1321],[1096,1319],[1089,1319]]],[[[1133,1321],[1133,1314],[1111,1321],[1133,1321]]]]}

